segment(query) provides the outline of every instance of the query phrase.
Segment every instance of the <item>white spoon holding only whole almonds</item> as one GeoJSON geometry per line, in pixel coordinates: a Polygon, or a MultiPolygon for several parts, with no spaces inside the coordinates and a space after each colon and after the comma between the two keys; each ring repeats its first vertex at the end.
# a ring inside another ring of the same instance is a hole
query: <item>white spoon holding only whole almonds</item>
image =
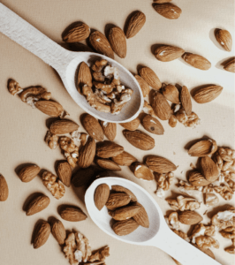
{"type": "Polygon", "coordinates": [[[112,177],[96,179],[87,189],[85,194],[85,203],[87,212],[95,224],[102,231],[106,232],[117,240],[141,246],[156,246],[162,249],[165,253],[170,254],[171,257],[183,265],[220,264],[171,231],[164,220],[161,208],[159,208],[155,200],[145,189],[130,180],[112,177]],[[117,236],[110,227],[111,217],[108,214],[107,208],[104,207],[101,211],[99,211],[95,207],[95,189],[102,183],[106,183],[108,186],[110,186],[110,189],[111,186],[118,185],[124,186],[125,188],[132,191],[148,213],[149,228],[139,226],[137,230],[133,231],[127,236],[117,236]]]}

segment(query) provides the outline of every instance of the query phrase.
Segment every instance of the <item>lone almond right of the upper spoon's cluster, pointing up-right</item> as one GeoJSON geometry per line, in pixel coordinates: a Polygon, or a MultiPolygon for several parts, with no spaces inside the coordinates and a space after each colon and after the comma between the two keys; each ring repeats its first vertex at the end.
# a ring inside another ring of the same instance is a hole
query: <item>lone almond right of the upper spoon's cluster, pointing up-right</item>
{"type": "Polygon", "coordinates": [[[193,99],[197,103],[208,103],[216,99],[217,96],[221,94],[223,87],[221,86],[208,86],[198,89],[194,95],[193,99]]]}

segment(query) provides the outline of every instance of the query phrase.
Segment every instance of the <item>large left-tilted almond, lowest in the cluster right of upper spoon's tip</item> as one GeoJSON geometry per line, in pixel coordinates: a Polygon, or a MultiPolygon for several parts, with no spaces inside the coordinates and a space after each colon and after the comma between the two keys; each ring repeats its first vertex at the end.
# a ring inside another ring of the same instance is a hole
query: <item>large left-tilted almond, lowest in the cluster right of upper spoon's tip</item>
{"type": "Polygon", "coordinates": [[[149,101],[157,117],[162,120],[167,120],[171,117],[171,106],[162,94],[153,91],[149,101]]]}

